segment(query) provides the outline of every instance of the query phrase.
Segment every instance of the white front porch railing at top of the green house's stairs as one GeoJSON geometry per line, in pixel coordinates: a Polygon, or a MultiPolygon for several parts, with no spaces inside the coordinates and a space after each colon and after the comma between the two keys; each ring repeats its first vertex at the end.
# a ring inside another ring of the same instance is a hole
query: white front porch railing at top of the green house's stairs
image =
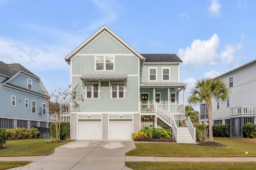
{"type": "MultiPolygon", "coordinates": [[[[140,104],[142,112],[152,112],[154,111],[152,107],[155,104],[140,104]]],[[[168,112],[184,112],[184,104],[157,104],[168,112]]]]}

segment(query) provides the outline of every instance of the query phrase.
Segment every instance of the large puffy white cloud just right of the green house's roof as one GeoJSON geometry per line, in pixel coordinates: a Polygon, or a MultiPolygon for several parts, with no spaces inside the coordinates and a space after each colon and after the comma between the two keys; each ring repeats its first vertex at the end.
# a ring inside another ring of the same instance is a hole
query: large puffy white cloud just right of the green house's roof
{"type": "Polygon", "coordinates": [[[184,61],[184,64],[193,66],[214,65],[216,58],[218,58],[216,50],[219,44],[220,40],[217,34],[208,40],[196,39],[186,50],[179,49],[178,56],[184,61]]]}

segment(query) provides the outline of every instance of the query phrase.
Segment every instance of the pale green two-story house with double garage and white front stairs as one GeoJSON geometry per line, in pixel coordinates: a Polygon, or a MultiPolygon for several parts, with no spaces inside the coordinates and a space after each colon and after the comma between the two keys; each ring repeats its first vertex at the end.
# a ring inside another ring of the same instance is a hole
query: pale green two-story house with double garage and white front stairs
{"type": "Polygon", "coordinates": [[[185,119],[186,84],[179,82],[177,55],[140,54],[104,25],[65,60],[70,84],[79,84],[84,97],[79,108],[70,106],[72,139],[130,139],[153,125],[172,129],[177,141],[195,141],[190,119],[178,127],[185,119]]]}

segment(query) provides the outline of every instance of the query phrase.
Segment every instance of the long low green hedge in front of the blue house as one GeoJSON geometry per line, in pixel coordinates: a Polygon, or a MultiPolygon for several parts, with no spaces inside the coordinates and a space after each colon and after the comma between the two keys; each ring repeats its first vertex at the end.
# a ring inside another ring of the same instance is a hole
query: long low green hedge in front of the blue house
{"type": "Polygon", "coordinates": [[[8,133],[8,140],[37,138],[40,133],[35,127],[31,129],[17,127],[14,129],[6,129],[6,131],[8,133]]]}

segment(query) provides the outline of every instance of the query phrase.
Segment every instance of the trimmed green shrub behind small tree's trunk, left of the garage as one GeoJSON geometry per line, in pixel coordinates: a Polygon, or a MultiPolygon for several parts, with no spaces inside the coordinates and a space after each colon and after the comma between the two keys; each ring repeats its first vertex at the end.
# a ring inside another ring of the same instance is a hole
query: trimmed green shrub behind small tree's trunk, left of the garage
{"type": "MultiPolygon", "coordinates": [[[[54,138],[56,137],[55,123],[50,123],[50,133],[51,133],[52,137],[54,137],[54,138]]],[[[70,123],[62,122],[60,124],[60,140],[67,139],[69,137],[70,137],[70,123]]]]}

